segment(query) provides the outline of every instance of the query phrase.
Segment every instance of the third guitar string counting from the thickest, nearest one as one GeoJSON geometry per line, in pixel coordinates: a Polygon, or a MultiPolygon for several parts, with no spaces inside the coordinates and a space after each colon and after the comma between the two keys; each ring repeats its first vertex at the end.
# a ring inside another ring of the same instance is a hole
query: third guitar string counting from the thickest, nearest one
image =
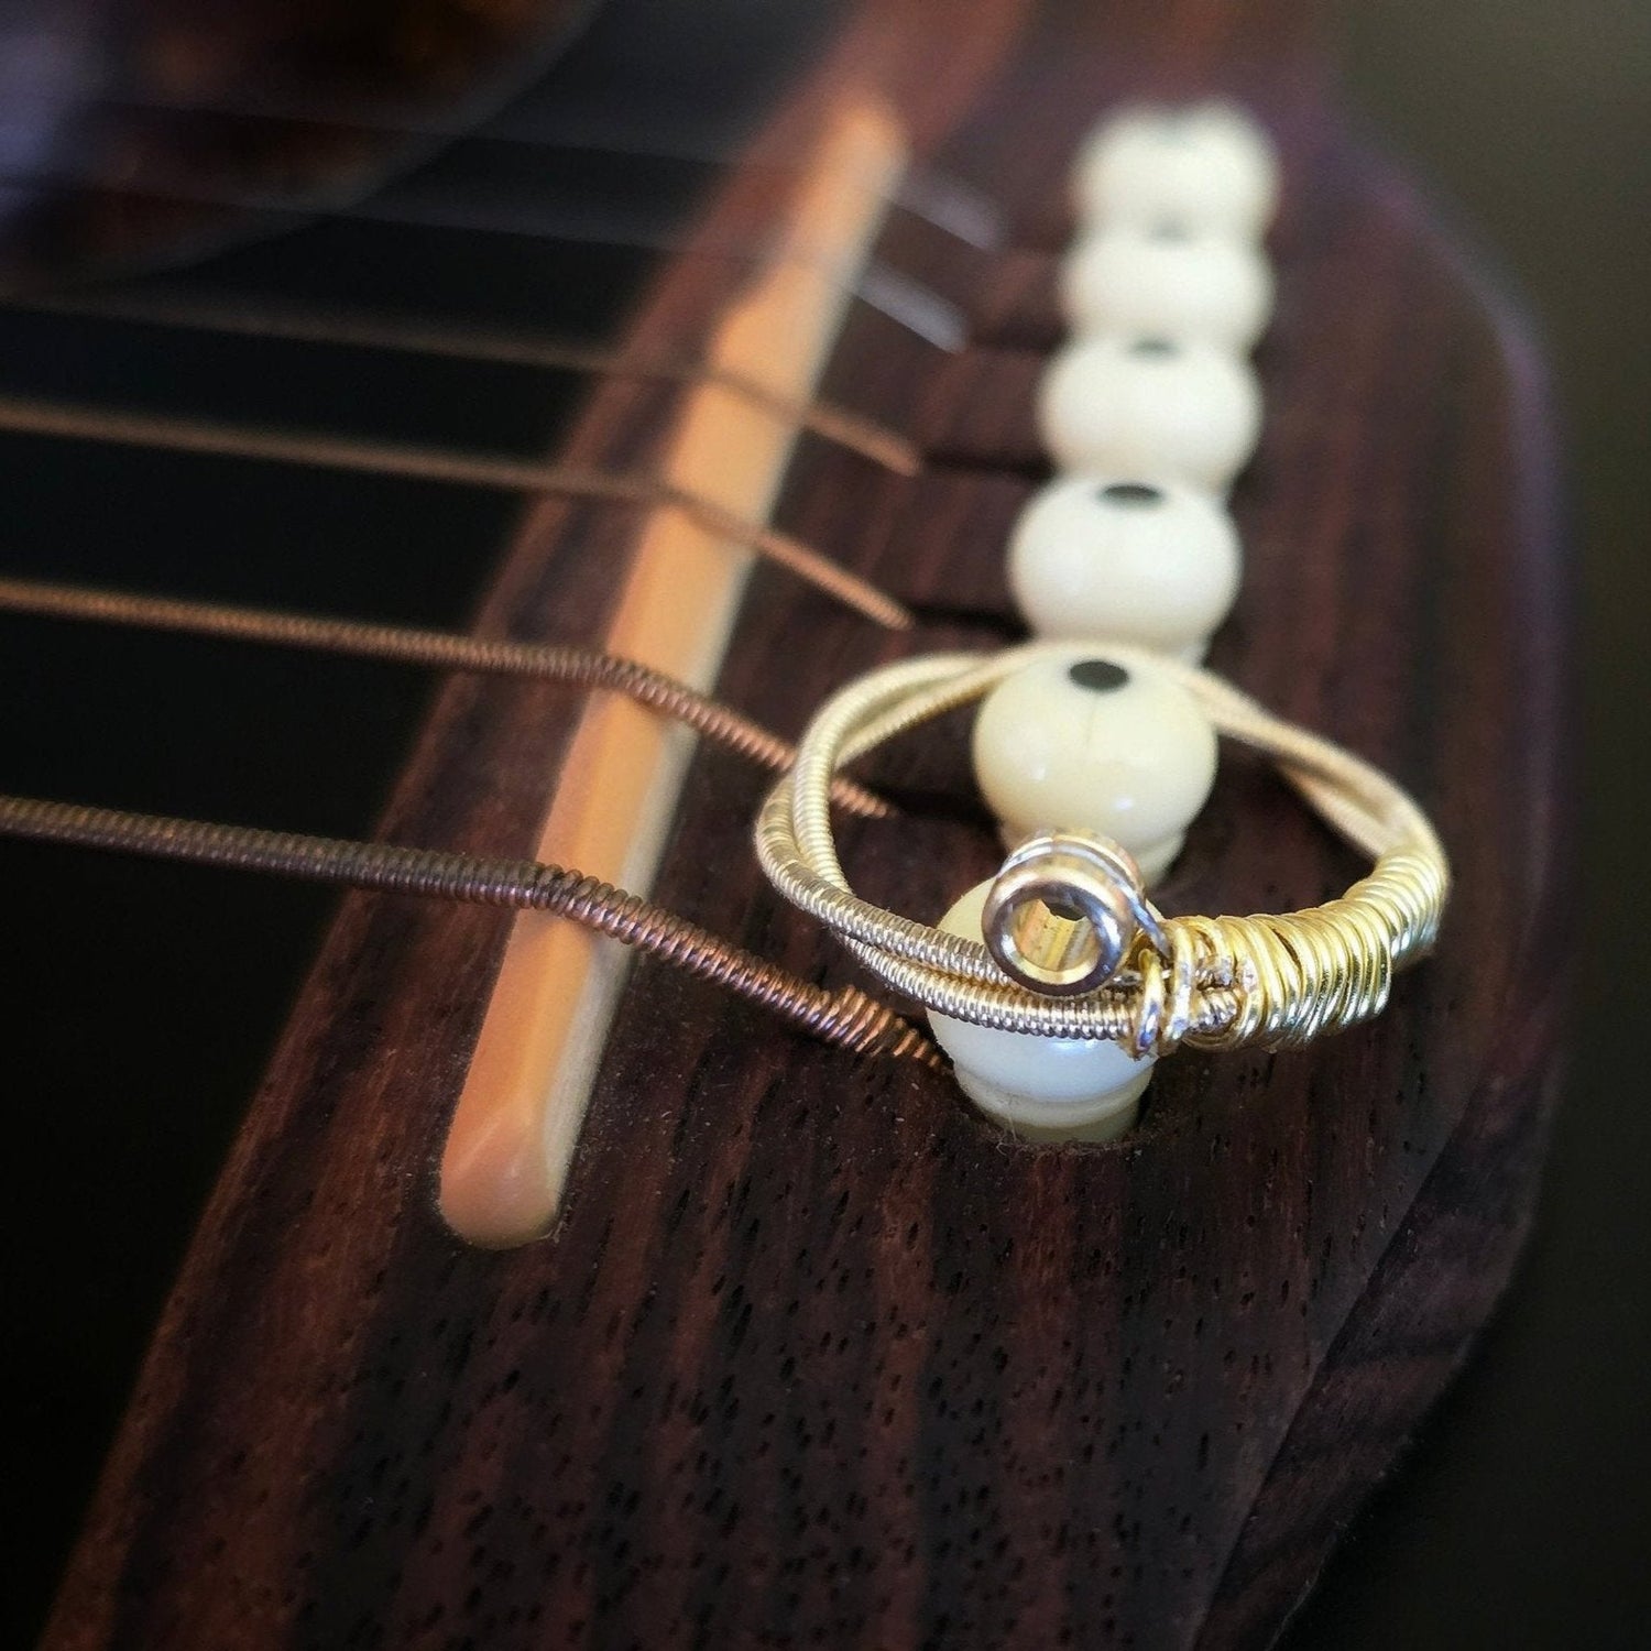
{"type": "Polygon", "coordinates": [[[892,596],[789,533],[748,522],[698,494],[647,475],[12,395],[0,395],[0,431],[680,510],[715,537],[786,568],[875,624],[908,631],[913,622],[892,596]]]}

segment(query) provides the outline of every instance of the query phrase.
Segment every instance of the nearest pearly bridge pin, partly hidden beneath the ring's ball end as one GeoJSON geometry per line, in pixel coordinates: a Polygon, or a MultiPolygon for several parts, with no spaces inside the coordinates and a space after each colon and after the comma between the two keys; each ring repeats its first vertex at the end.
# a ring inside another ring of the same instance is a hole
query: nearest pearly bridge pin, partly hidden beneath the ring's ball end
{"type": "MultiPolygon", "coordinates": [[[[984,938],[984,910],[996,878],[971,888],[939,928],[984,938]]],[[[1139,1116],[1152,1060],[1134,1058],[1113,1038],[997,1032],[930,1010],[934,1042],[951,1057],[958,1086],[989,1118],[1030,1141],[1111,1141],[1139,1116]]]]}

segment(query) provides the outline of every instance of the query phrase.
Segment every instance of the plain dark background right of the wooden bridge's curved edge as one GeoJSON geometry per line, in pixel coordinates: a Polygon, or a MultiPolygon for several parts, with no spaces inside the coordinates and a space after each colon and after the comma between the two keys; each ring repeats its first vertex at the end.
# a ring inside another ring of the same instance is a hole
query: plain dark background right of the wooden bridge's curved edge
{"type": "Polygon", "coordinates": [[[1651,5],[1354,0],[1349,102],[1534,314],[1577,570],[1575,1035],[1501,1316],[1288,1651],[1651,1644],[1651,5]]]}

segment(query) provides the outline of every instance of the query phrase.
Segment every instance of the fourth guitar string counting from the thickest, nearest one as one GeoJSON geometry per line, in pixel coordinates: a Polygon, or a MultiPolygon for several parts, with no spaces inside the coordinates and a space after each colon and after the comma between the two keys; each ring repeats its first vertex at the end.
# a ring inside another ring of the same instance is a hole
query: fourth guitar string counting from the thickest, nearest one
{"type": "Polygon", "coordinates": [[[482,332],[439,327],[431,322],[360,310],[322,314],[269,302],[223,302],[188,291],[147,289],[137,294],[51,294],[12,299],[5,309],[25,314],[68,315],[88,320],[134,322],[182,332],[213,332],[239,338],[289,343],[343,345],[433,355],[459,362],[533,367],[546,371],[603,378],[636,378],[652,383],[717,385],[750,401],[783,424],[834,441],[900,475],[916,475],[923,457],[903,436],[829,401],[802,401],[766,388],[758,380],[692,358],[634,357],[593,343],[533,334],[482,332]]]}

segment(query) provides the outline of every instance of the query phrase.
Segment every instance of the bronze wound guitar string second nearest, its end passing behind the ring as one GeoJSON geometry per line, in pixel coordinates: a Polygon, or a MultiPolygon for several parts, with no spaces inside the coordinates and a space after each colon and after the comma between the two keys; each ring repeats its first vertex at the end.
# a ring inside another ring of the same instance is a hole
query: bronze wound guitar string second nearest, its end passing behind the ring
{"type": "MultiPolygon", "coordinates": [[[[634,659],[560,642],[515,642],[375,624],[325,614],[284,613],[231,603],[196,603],[173,596],[139,596],[50,580],[0,576],[0,613],[203,636],[225,642],[291,647],[342,659],[376,659],[431,670],[553,682],[570,688],[604,688],[685,723],[695,733],[751,758],[776,773],[791,766],[794,746],[743,712],[634,659]]],[[[888,816],[890,806],[863,786],[839,779],[834,799],[865,819],[888,816]]]]}

